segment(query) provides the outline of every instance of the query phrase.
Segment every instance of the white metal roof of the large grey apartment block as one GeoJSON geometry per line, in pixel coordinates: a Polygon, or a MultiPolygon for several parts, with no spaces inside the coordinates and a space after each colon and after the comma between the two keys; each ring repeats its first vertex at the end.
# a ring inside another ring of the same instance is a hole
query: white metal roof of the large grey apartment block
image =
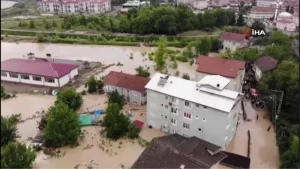
{"type": "Polygon", "coordinates": [[[158,82],[161,77],[165,76],[164,74],[156,73],[146,85],[146,88],[224,112],[230,112],[239,94],[226,89],[222,91],[215,90],[215,93],[209,90],[204,91],[205,88],[197,91],[197,82],[174,76],[169,76],[167,83],[164,87],[161,87],[158,85],[158,82]],[[233,99],[233,94],[236,95],[235,99],[233,99]]]}

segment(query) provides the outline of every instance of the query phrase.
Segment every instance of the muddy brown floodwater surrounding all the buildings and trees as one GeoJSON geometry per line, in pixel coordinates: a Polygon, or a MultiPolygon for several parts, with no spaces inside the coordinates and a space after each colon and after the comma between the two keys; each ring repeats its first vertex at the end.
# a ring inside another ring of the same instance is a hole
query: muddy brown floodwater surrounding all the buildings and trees
{"type": "MultiPolygon", "coordinates": [[[[142,53],[154,52],[155,48],[150,47],[113,47],[113,46],[93,46],[93,45],[66,45],[66,44],[34,44],[34,43],[6,43],[1,42],[1,61],[10,58],[23,58],[27,53],[32,52],[37,57],[46,57],[50,53],[53,58],[71,59],[71,60],[90,60],[99,61],[104,64],[122,63],[124,66],[112,66],[98,76],[105,75],[110,70],[123,71],[125,73],[135,73],[135,68],[142,66],[153,67],[153,63],[146,60],[147,56],[142,53]],[[130,59],[133,56],[133,59],[130,59]]],[[[192,78],[195,74],[196,66],[190,66],[188,63],[178,62],[178,70],[181,73],[188,73],[192,78]]],[[[151,72],[155,71],[151,68],[151,72]]],[[[169,71],[171,74],[175,70],[169,71]]],[[[81,87],[82,88],[82,87],[81,87]]],[[[1,114],[11,115],[21,113],[22,118],[32,116],[36,111],[47,110],[53,105],[55,97],[41,95],[19,94],[16,98],[1,101],[1,114]],[[30,107],[28,106],[30,103],[30,107]],[[26,107],[26,108],[25,108],[26,107]]],[[[106,97],[104,95],[86,95],[84,103],[79,112],[87,109],[103,109],[106,97]]],[[[138,120],[145,121],[145,106],[125,106],[126,110],[132,110],[134,117],[138,120]]],[[[232,140],[227,151],[247,156],[247,131],[251,133],[251,169],[278,169],[279,154],[276,146],[275,134],[271,129],[267,131],[270,122],[263,118],[264,112],[259,113],[259,120],[256,122],[257,112],[251,108],[250,103],[246,104],[248,117],[251,122],[244,122],[240,117],[240,124],[237,129],[236,137],[232,140]]],[[[19,134],[21,140],[26,141],[28,137],[34,137],[37,130],[39,118],[28,120],[19,124],[19,134]]],[[[45,157],[42,153],[36,159],[34,167],[36,169],[71,169],[77,164],[81,164],[78,169],[85,169],[86,166],[93,163],[94,169],[118,169],[123,164],[130,167],[138,156],[144,150],[137,141],[135,143],[128,140],[119,142],[106,143],[105,151],[99,148],[102,140],[99,135],[100,128],[86,127],[86,137],[81,141],[80,146],[76,148],[63,148],[62,152],[66,155],[62,158],[45,157]],[[120,148],[118,148],[120,146],[120,148]],[[89,148],[86,148],[89,147],[89,148]],[[107,152],[106,152],[107,151],[107,152]]],[[[164,133],[144,127],[140,136],[150,141],[154,137],[162,136],[164,133]]],[[[219,165],[217,169],[228,169],[219,165]]]]}

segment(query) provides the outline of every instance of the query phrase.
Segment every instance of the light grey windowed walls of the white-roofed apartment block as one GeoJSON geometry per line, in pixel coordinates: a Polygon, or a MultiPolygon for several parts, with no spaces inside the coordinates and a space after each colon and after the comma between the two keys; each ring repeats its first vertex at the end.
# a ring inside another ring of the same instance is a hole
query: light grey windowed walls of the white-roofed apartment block
{"type": "Polygon", "coordinates": [[[233,113],[229,115],[202,105],[197,107],[191,102],[191,108],[187,108],[184,100],[177,99],[178,102],[174,103],[171,96],[147,90],[147,125],[171,134],[196,136],[221,147],[228,144],[235,132],[231,131],[235,123],[231,119],[233,113]],[[171,112],[172,108],[177,109],[177,112],[171,112]],[[191,114],[191,118],[184,117],[184,113],[191,114]],[[175,124],[171,121],[175,121],[175,124]],[[190,128],[185,129],[183,123],[188,124],[190,128]]]}

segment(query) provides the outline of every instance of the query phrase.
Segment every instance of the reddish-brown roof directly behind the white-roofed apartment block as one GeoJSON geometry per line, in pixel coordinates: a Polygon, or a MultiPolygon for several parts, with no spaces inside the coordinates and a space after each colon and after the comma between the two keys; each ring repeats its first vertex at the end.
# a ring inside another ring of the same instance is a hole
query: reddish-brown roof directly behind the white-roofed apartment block
{"type": "Polygon", "coordinates": [[[239,70],[245,69],[245,62],[219,57],[199,56],[197,72],[236,78],[239,70]]]}

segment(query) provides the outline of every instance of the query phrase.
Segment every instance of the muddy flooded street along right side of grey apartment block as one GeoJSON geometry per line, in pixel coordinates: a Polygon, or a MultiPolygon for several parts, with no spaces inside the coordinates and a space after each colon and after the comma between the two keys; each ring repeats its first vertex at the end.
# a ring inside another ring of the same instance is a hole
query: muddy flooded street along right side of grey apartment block
{"type": "Polygon", "coordinates": [[[245,110],[250,122],[245,122],[240,115],[236,136],[231,141],[226,151],[239,155],[247,156],[248,135],[250,131],[250,159],[251,169],[278,169],[279,150],[276,145],[276,136],[273,127],[268,132],[267,129],[271,122],[264,119],[265,112],[255,111],[249,102],[245,102],[245,110]],[[256,115],[259,115],[258,121],[256,115]]]}

